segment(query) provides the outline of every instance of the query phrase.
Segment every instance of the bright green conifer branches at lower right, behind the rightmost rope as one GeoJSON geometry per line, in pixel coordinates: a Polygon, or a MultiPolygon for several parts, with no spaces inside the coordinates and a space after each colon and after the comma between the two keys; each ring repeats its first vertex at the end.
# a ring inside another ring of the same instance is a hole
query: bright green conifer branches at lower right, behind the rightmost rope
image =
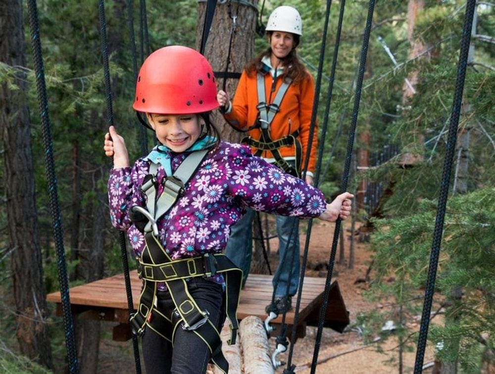
{"type": "MultiPolygon", "coordinates": [[[[430,338],[443,346],[441,361],[457,359],[466,373],[479,368],[484,352],[494,349],[494,192],[485,187],[452,196],[446,209],[435,303],[448,308],[446,323],[432,325],[430,338]],[[459,287],[462,296],[452,298],[459,287]]],[[[377,298],[393,297],[405,315],[417,310],[418,300],[411,297],[426,283],[435,211],[434,201],[422,199],[416,213],[373,221],[376,278],[369,292],[377,298]],[[391,274],[396,281],[384,281],[391,274]]]]}

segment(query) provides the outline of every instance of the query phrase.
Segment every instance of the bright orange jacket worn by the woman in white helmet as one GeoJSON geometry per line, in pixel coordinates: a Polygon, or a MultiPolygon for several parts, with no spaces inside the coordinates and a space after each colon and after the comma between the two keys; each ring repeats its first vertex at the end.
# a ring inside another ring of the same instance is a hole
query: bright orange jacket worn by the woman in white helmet
{"type": "MultiPolygon", "coordinates": [[[[277,77],[275,92],[271,93],[272,76],[270,72],[265,74],[265,95],[266,103],[273,102],[273,98],[282,85],[282,79],[277,77]],[[271,97],[270,97],[271,94],[271,97]]],[[[284,138],[287,135],[294,133],[297,129],[299,135],[297,140],[302,145],[301,168],[304,166],[304,160],[307,153],[307,142],[309,138],[309,127],[311,122],[311,112],[314,99],[314,81],[313,77],[307,75],[298,84],[291,84],[280,103],[280,110],[273,118],[270,125],[270,137],[272,140],[284,138]]],[[[246,130],[251,127],[257,118],[258,109],[258,94],[256,89],[256,74],[252,73],[248,76],[246,71],[243,71],[239,84],[234,95],[230,112],[224,114],[224,118],[234,127],[241,130],[246,130]]],[[[308,171],[314,173],[316,167],[316,149],[318,146],[318,127],[315,127],[315,133],[311,144],[309,156],[308,171]]],[[[247,132],[255,140],[259,140],[261,131],[252,129],[247,132]]],[[[252,152],[255,152],[252,148],[252,152]]],[[[294,158],[296,155],[295,145],[279,148],[280,155],[284,158],[294,158]]],[[[264,151],[261,155],[263,158],[273,158],[270,151],[264,151]]]]}

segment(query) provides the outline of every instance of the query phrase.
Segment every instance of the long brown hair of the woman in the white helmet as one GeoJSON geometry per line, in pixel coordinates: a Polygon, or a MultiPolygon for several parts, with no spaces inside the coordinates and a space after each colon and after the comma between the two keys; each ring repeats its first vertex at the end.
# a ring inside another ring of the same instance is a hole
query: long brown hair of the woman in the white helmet
{"type": "MultiPolygon", "coordinates": [[[[268,31],[266,34],[269,39],[272,37],[272,31],[268,31]]],[[[306,70],[306,67],[299,61],[297,57],[296,47],[299,44],[299,35],[294,35],[294,48],[289,52],[289,54],[282,59],[284,63],[284,73],[282,77],[284,79],[291,79],[293,84],[299,83],[306,74],[309,74],[306,70]]],[[[263,52],[259,53],[256,57],[254,57],[244,68],[246,70],[247,75],[252,76],[253,73],[265,74],[264,64],[261,62],[261,59],[265,56],[270,57],[272,53],[271,47],[268,47],[263,52]]]]}

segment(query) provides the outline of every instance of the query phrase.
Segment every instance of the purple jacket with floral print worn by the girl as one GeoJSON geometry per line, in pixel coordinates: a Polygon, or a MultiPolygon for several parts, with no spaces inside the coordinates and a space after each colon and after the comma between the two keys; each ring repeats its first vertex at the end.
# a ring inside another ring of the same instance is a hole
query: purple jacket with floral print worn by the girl
{"type": "MultiPolygon", "coordinates": [[[[186,156],[167,155],[173,171],[186,156]]],[[[140,158],[132,168],[113,169],[108,180],[112,225],[127,230],[137,256],[145,247],[144,235],[129,219],[129,210],[146,205],[140,186],[149,164],[147,157],[140,158]]],[[[160,186],[164,176],[159,166],[160,186]]],[[[230,227],[241,219],[246,206],[279,215],[318,217],[326,203],[320,190],[252,156],[247,146],[221,141],[208,152],[175,206],[157,221],[163,248],[172,259],[222,252],[230,227]]]]}

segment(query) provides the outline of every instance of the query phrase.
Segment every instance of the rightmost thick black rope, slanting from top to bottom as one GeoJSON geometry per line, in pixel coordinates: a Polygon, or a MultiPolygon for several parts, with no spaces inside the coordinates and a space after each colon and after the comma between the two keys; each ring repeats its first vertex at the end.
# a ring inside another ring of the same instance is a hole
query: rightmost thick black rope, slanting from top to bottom
{"type": "Polygon", "coordinates": [[[459,124],[459,115],[462,105],[462,92],[464,90],[464,80],[466,78],[466,66],[469,54],[469,44],[471,40],[471,27],[473,24],[475,8],[476,0],[467,0],[466,13],[464,14],[464,26],[462,28],[459,61],[457,63],[457,79],[455,82],[454,96],[452,99],[450,125],[448,128],[444,169],[442,172],[442,180],[440,182],[440,196],[438,199],[437,217],[435,219],[435,228],[433,231],[432,248],[430,254],[430,264],[428,267],[428,276],[425,287],[425,302],[423,304],[423,313],[421,315],[421,325],[419,328],[418,347],[416,350],[416,361],[414,364],[415,374],[420,374],[422,372],[426,339],[428,337],[428,327],[430,324],[433,293],[435,292],[435,279],[437,276],[440,245],[442,242],[442,234],[444,230],[444,219],[447,204],[448,187],[450,182],[450,172],[452,169],[452,162],[455,152],[457,126],[459,124]]]}

